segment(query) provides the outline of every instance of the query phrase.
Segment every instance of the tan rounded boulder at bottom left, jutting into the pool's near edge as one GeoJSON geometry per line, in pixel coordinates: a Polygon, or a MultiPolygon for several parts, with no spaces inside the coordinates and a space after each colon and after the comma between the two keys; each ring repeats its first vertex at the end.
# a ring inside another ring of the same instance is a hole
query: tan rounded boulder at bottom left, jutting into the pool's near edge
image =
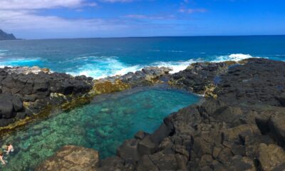
{"type": "Polygon", "coordinates": [[[93,149],[66,145],[55,155],[45,160],[36,170],[67,171],[96,170],[99,166],[99,154],[93,149]]]}

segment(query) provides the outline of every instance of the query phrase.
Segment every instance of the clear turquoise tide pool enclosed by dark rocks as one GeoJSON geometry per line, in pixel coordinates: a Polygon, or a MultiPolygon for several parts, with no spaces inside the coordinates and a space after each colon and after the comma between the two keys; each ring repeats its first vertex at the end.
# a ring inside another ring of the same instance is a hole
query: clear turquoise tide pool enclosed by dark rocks
{"type": "Polygon", "coordinates": [[[11,142],[15,152],[2,169],[33,170],[62,145],[92,147],[102,158],[115,155],[118,145],[138,130],[152,133],[167,115],[198,100],[190,93],[161,88],[98,96],[93,103],[54,113],[4,137],[1,142],[11,142]]]}

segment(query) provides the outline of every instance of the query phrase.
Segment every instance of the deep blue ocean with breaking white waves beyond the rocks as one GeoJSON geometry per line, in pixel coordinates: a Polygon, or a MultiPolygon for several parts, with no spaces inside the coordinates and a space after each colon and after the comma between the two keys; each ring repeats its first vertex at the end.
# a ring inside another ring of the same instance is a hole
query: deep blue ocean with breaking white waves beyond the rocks
{"type": "Polygon", "coordinates": [[[0,66],[40,66],[102,78],[144,66],[175,72],[195,61],[285,59],[285,36],[78,38],[0,41],[0,66]]]}

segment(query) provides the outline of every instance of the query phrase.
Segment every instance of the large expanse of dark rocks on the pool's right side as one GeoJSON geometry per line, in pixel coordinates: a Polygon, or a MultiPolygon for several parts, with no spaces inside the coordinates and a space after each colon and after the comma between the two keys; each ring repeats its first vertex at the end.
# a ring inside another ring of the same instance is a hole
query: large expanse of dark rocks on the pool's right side
{"type": "Polygon", "coordinates": [[[263,58],[192,64],[170,83],[201,94],[214,84],[216,96],[137,133],[99,170],[285,170],[284,73],[263,58]]]}

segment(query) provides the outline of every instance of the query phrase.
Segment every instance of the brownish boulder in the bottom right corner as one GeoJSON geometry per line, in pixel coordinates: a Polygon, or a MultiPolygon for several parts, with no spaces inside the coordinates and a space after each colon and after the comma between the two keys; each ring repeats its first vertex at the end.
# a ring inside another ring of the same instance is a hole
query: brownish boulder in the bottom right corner
{"type": "Polygon", "coordinates": [[[259,162],[261,170],[264,171],[285,170],[285,152],[277,145],[261,143],[259,145],[259,162]]]}

